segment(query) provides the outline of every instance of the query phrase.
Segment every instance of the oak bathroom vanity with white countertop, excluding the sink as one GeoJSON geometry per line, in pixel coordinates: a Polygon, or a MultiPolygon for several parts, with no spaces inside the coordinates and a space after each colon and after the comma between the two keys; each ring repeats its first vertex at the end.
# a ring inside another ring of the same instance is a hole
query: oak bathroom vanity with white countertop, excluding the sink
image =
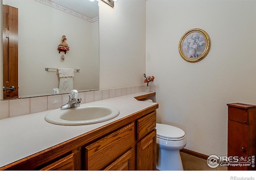
{"type": "MultiPolygon", "coordinates": [[[[8,164],[0,170],[156,170],[155,128],[158,104],[140,101],[154,95],[137,93],[98,101],[116,106],[120,114],[113,120],[97,124],[51,124],[44,120],[49,111],[25,115],[24,118],[28,120],[24,123],[27,124],[20,128],[26,127],[23,130],[30,131],[31,137],[24,140],[28,133],[25,132],[21,137],[16,136],[20,140],[14,140],[11,131],[10,139],[4,145],[5,152],[0,151],[0,160],[4,156],[19,154],[19,150],[22,153],[34,148],[34,153],[31,151],[28,156],[23,153],[24,158],[6,162],[8,164]],[[38,139],[33,138],[33,133],[38,139]],[[9,142],[11,139],[14,142],[9,142]],[[51,146],[51,143],[55,145],[51,146]],[[8,152],[8,148],[12,152],[8,152]]],[[[9,119],[10,123],[15,121],[13,119],[9,119]]],[[[1,121],[6,124],[8,119],[1,121]]]]}

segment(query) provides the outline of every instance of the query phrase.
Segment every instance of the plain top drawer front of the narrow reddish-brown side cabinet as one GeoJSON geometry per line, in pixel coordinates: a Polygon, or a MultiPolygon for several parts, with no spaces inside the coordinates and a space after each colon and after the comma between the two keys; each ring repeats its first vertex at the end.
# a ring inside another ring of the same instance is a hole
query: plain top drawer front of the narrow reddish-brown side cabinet
{"type": "Polygon", "coordinates": [[[228,107],[228,119],[248,124],[248,111],[247,109],[228,107]]]}

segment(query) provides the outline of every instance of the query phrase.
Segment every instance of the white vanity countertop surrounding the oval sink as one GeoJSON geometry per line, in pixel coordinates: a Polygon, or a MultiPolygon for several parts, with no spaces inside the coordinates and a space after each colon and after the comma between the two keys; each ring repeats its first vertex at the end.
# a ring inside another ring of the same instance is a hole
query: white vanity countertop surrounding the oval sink
{"type": "Polygon", "coordinates": [[[138,101],[134,98],[144,94],[147,93],[141,92],[86,103],[90,105],[110,104],[120,111],[116,118],[97,124],[80,126],[51,124],[44,120],[44,116],[52,110],[0,120],[0,167],[156,104],[138,101]]]}

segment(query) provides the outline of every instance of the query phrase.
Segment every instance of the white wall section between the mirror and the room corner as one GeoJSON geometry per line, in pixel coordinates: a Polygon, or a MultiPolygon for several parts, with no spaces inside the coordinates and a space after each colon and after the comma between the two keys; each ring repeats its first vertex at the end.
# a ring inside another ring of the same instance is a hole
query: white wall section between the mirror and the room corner
{"type": "Polygon", "coordinates": [[[146,1],[100,6],[100,89],[143,84],[146,72],[146,1]]]}

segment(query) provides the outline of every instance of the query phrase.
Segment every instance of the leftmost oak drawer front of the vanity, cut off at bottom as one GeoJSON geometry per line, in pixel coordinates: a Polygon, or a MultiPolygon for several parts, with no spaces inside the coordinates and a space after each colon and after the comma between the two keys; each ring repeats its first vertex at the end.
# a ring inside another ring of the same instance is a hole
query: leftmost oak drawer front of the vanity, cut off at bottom
{"type": "Polygon", "coordinates": [[[74,170],[74,154],[70,154],[40,170],[74,170]]]}

